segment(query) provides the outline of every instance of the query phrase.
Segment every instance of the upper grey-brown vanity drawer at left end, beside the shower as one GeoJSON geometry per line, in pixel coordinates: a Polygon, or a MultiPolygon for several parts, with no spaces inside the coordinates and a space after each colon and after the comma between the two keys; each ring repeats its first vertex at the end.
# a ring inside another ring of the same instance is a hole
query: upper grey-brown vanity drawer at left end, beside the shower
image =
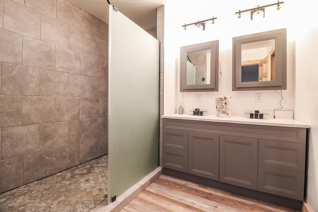
{"type": "Polygon", "coordinates": [[[180,130],[163,130],[162,147],[188,152],[188,132],[180,130]]]}

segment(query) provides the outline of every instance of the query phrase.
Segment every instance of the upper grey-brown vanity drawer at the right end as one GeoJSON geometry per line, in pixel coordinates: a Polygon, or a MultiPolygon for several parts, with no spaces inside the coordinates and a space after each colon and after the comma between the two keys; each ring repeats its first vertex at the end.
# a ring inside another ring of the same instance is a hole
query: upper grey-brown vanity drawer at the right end
{"type": "Polygon", "coordinates": [[[305,172],[306,145],[277,141],[258,142],[258,165],[305,172]]]}

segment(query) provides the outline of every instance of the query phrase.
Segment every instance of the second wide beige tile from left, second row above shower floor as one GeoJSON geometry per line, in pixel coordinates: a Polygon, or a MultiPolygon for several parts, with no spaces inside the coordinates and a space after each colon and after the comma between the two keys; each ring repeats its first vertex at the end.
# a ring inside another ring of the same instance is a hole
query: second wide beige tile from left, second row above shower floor
{"type": "Polygon", "coordinates": [[[40,149],[65,146],[68,143],[68,123],[55,122],[40,125],[40,149]]]}

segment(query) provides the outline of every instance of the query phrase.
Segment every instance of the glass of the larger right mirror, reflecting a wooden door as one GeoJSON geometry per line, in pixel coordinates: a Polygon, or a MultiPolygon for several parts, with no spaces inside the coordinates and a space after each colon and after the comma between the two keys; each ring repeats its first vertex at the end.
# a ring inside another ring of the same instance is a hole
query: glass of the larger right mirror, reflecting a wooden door
{"type": "Polygon", "coordinates": [[[275,39],[241,44],[242,82],[275,81],[275,39]]]}

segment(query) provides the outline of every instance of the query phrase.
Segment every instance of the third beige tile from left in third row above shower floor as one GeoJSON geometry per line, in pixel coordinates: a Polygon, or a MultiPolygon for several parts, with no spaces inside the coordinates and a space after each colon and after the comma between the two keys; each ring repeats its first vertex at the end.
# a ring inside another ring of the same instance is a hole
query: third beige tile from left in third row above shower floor
{"type": "Polygon", "coordinates": [[[55,121],[79,119],[79,97],[55,97],[55,121]]]}

